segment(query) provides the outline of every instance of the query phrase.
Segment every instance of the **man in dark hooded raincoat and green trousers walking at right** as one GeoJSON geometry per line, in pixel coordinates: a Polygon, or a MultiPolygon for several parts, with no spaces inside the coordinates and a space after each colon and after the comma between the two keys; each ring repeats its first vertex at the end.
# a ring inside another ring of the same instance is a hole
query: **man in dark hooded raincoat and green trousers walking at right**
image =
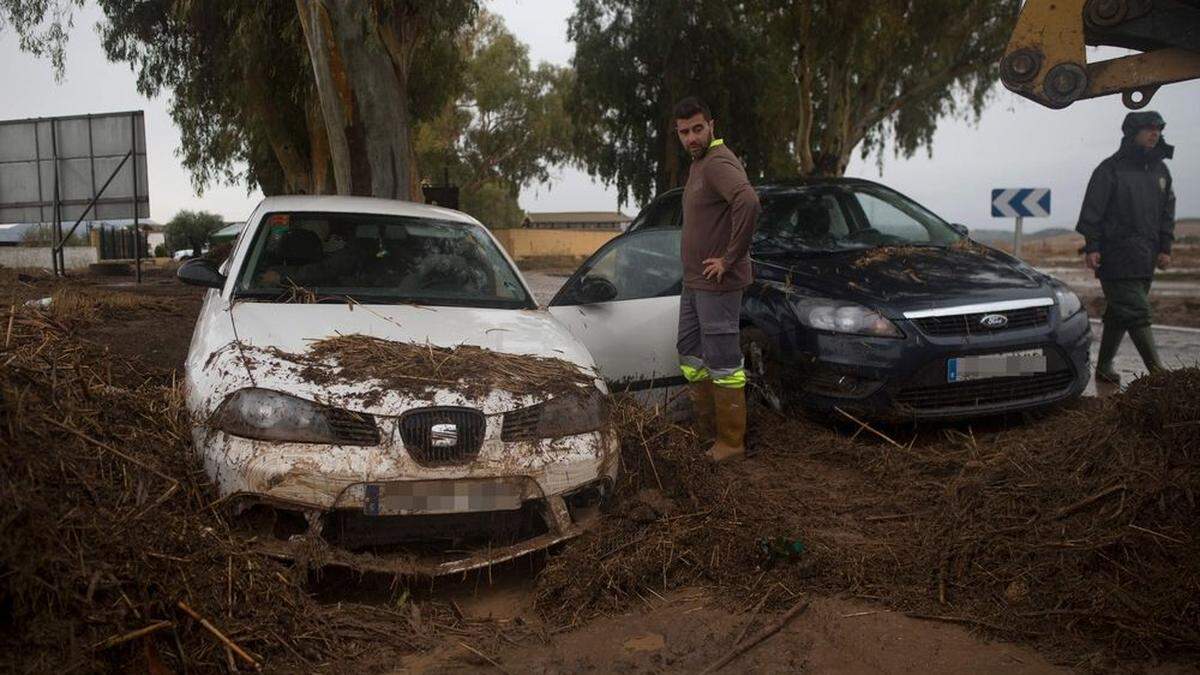
{"type": "Polygon", "coordinates": [[[1085,262],[1104,291],[1104,334],[1097,380],[1120,384],[1112,358],[1128,331],[1141,360],[1162,370],[1150,327],[1150,283],[1154,268],[1171,264],[1175,192],[1163,160],[1175,148],[1163,139],[1166,123],[1156,112],[1129,113],[1121,149],[1092,172],[1075,229],[1084,235],[1085,262]]]}

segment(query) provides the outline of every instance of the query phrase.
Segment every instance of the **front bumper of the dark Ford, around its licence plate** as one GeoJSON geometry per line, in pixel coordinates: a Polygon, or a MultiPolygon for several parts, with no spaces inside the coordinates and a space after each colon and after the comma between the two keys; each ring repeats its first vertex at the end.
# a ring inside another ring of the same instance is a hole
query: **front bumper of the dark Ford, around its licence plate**
{"type": "Polygon", "coordinates": [[[808,348],[785,350],[785,381],[800,404],[841,408],[874,419],[956,419],[1026,411],[1082,394],[1091,376],[1086,312],[1050,324],[992,335],[930,338],[898,321],[904,339],[820,334],[797,336],[808,348]],[[947,360],[1040,348],[1046,372],[970,382],[947,381],[947,360]]]}

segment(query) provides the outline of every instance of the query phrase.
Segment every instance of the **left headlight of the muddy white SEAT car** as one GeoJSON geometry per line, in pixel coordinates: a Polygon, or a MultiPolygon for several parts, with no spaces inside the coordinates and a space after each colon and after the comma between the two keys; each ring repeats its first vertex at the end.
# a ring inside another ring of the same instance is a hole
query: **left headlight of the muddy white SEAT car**
{"type": "Polygon", "coordinates": [[[377,446],[374,417],[272,392],[239,389],[212,416],[214,426],[234,436],[260,441],[377,446]]]}

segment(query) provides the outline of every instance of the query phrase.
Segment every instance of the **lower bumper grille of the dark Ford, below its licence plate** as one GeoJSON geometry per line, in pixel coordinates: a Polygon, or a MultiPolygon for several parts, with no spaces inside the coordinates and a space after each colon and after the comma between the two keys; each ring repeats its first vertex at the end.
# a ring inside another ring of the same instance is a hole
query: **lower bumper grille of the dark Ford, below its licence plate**
{"type": "Polygon", "coordinates": [[[1018,377],[995,377],[976,382],[954,382],[907,387],[896,401],[913,410],[972,408],[1063,394],[1074,375],[1069,370],[1018,377]]]}

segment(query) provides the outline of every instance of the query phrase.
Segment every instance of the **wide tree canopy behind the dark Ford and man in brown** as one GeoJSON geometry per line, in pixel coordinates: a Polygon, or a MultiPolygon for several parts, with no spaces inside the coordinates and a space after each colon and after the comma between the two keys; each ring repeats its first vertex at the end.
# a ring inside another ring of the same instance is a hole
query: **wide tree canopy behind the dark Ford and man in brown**
{"type": "Polygon", "coordinates": [[[624,203],[679,185],[671,106],[698,95],[751,178],[841,174],[856,148],[929,147],[978,115],[1019,0],[578,0],[578,159],[624,203]]]}

